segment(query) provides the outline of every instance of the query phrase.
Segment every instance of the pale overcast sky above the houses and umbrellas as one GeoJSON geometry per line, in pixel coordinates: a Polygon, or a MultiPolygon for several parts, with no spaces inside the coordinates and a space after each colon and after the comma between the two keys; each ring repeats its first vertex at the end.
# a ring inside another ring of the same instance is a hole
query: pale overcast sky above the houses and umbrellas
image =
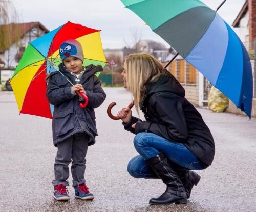
{"type": "MultiPolygon", "coordinates": [[[[215,10],[222,1],[203,0],[202,2],[215,10]]],[[[39,21],[50,31],[67,21],[102,30],[103,48],[124,47],[124,38],[129,42],[133,28],[141,31],[142,39],[156,40],[169,46],[135,13],[125,8],[120,0],[12,0],[12,2],[19,13],[20,22],[39,21]]],[[[161,0],[158,2],[160,3],[161,0]]],[[[244,2],[245,0],[227,0],[218,13],[229,25],[232,25],[244,2]]]]}

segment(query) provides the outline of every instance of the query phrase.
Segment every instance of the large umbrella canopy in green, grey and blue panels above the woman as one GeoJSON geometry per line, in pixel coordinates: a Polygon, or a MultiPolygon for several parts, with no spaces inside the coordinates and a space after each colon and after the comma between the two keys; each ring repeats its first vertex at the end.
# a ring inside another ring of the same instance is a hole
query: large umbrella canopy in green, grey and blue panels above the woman
{"type": "Polygon", "coordinates": [[[198,0],[121,0],[251,117],[248,53],[218,13],[198,0]]]}

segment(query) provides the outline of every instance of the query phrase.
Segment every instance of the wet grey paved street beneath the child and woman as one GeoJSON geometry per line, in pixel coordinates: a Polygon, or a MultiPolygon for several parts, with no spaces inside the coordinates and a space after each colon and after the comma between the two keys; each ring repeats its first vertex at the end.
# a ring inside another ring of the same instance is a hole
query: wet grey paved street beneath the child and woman
{"type": "MultiPolygon", "coordinates": [[[[214,163],[198,171],[201,181],[187,205],[150,206],[148,200],[165,189],[160,180],[134,179],[126,171],[137,155],[134,135],[124,131],[121,121],[111,120],[113,110],[131,102],[123,88],[105,88],[107,98],[96,109],[99,136],[89,147],[86,179],[93,201],[74,198],[69,202],[52,198],[53,164],[51,120],[18,115],[12,92],[0,92],[0,211],[256,211],[256,119],[198,109],[216,142],[214,163]]],[[[133,110],[135,114],[135,109],[133,110]]]]}

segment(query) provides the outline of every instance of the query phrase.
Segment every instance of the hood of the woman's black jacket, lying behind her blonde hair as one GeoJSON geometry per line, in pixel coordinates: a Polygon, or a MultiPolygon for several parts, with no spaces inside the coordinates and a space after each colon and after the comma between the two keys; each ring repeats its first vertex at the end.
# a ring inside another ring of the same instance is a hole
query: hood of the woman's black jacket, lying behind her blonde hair
{"type": "Polygon", "coordinates": [[[170,73],[162,74],[156,82],[147,84],[145,97],[158,92],[170,92],[180,97],[185,97],[185,89],[170,73]]]}

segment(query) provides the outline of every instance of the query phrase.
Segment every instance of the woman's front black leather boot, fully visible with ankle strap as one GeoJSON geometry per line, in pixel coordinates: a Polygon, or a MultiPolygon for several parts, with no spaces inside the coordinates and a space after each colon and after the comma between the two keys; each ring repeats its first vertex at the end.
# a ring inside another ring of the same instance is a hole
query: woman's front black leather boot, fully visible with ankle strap
{"type": "Polygon", "coordinates": [[[146,160],[158,177],[166,184],[166,191],[158,198],[150,199],[151,205],[186,204],[185,188],[163,153],[146,160]]]}

